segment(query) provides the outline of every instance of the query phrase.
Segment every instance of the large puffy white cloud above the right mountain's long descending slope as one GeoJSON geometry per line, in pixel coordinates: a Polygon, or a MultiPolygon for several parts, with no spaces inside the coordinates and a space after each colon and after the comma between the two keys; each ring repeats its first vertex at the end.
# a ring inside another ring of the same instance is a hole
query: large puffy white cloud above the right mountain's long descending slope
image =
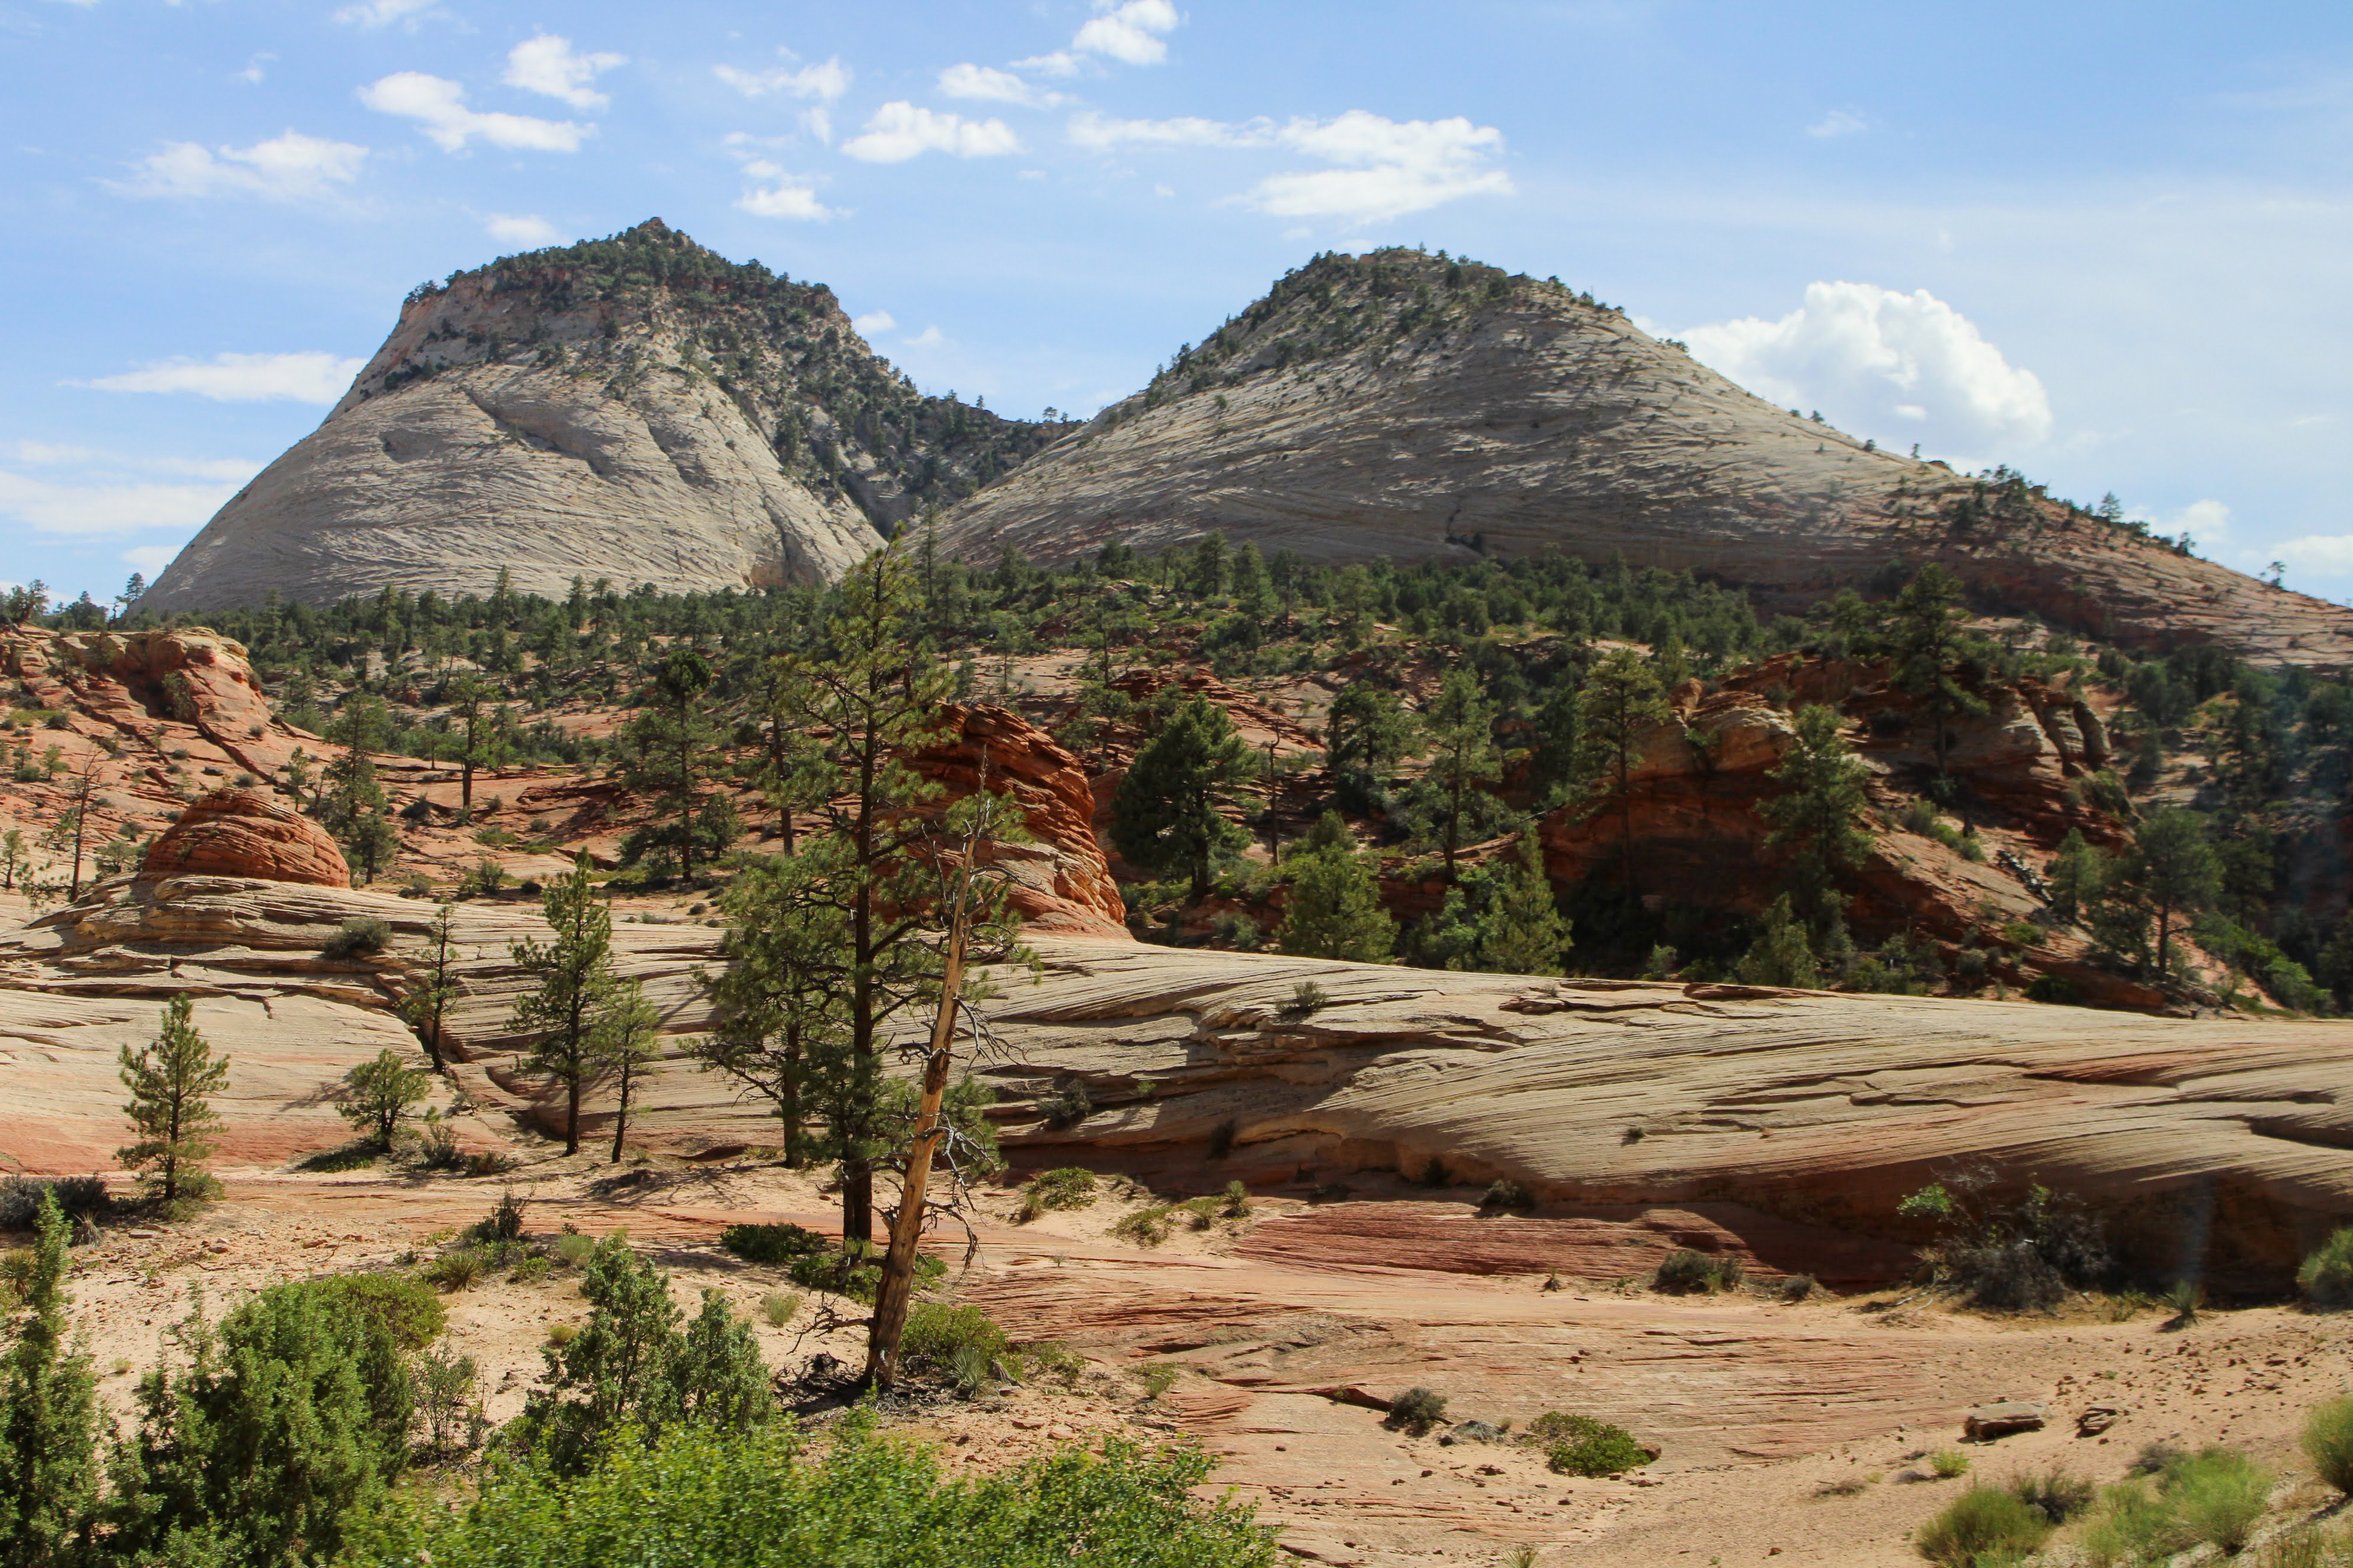
{"type": "Polygon", "coordinates": [[[1680,334],[1704,364],[1781,407],[1826,409],[1847,430],[1988,458],[2052,433],[2042,381],[1927,289],[1812,282],[1777,322],[1744,317],[1680,334]]]}

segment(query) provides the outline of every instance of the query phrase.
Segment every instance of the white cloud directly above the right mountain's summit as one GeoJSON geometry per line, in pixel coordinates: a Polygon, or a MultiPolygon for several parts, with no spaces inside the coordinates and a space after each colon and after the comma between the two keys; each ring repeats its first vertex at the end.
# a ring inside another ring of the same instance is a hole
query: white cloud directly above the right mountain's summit
{"type": "Polygon", "coordinates": [[[1504,132],[1461,115],[1386,120],[1351,108],[1337,120],[1292,120],[1275,141],[1339,165],[1271,174],[1240,197],[1278,219],[1381,223],[1466,195],[1513,193],[1511,176],[1489,167],[1504,150],[1504,132]]]}

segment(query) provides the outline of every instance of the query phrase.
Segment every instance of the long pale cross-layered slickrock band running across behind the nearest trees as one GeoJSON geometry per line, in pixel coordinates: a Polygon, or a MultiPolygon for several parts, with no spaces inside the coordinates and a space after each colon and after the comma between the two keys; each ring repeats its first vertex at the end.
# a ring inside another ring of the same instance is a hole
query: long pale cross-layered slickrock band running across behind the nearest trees
{"type": "MultiPolygon", "coordinates": [[[[0,1041],[12,1081],[40,1079],[54,1100],[52,1131],[0,1131],[0,1154],[89,1164],[113,1147],[106,1030],[132,997],[153,1006],[195,990],[200,1023],[231,1051],[275,1027],[271,1006],[329,1004],[334,1018],[313,1027],[315,1077],[332,1079],[351,1041],[372,1051],[398,1030],[386,1009],[428,919],[426,905],[372,893],[181,877],[115,882],[35,922],[0,943],[0,1041]],[[355,912],[388,919],[395,950],[320,959],[355,912]]],[[[525,1041],[508,1027],[522,978],[506,947],[536,929],[522,907],[459,907],[452,1023],[468,1093],[548,1128],[555,1098],[520,1070],[525,1041]]],[[[619,924],[614,938],[671,1046],[633,1128],[689,1154],[774,1145],[758,1105],[678,1051],[708,1023],[696,971],[715,961],[718,931],[619,924]]],[[[2282,1286],[2327,1225],[2353,1215],[2353,1025],[1038,947],[1045,973],[1007,976],[988,1004],[1000,1051],[979,1065],[1019,1164],[1132,1168],[1214,1192],[1233,1178],[1421,1178],[1435,1159],[1449,1182],[1508,1175],[1548,1204],[1506,1248],[1529,1272],[1704,1244],[1765,1269],[1861,1279],[1901,1253],[1857,1239],[1920,1239],[1897,1199],[1972,1159],[2085,1194],[2141,1262],[2202,1267],[2221,1288],[2282,1286]],[[1297,1009],[1301,983],[1322,1006],[1297,1009]],[[1071,1084],[1092,1112],[1047,1126],[1035,1100],[1071,1084]],[[2184,1258],[2184,1237],[2205,1237],[2205,1251],[2184,1258]]],[[[602,1117],[598,1103],[591,1121],[602,1117]]],[[[1301,1258],[1360,1255],[1346,1234],[1318,1241],[1299,1225],[1301,1258]]]]}

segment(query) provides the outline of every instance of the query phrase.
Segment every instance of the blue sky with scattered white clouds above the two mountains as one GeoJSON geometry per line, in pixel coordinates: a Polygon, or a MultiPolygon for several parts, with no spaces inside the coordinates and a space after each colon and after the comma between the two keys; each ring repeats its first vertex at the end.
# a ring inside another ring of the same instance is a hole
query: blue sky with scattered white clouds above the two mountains
{"type": "Polygon", "coordinates": [[[1009,414],[1445,247],[2353,597],[2341,5],[0,0],[0,581],[153,576],[412,284],[659,214],[1009,414]]]}

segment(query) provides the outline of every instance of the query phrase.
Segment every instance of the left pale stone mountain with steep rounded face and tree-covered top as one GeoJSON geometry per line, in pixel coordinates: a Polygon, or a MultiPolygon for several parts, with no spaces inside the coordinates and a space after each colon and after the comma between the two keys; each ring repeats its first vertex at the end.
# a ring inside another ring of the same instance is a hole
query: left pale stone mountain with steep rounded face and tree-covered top
{"type": "Polygon", "coordinates": [[[1052,428],[925,397],[833,292],[652,219],[426,284],[327,421],[158,578],[155,611],[398,588],[828,581],[1052,428]]]}

